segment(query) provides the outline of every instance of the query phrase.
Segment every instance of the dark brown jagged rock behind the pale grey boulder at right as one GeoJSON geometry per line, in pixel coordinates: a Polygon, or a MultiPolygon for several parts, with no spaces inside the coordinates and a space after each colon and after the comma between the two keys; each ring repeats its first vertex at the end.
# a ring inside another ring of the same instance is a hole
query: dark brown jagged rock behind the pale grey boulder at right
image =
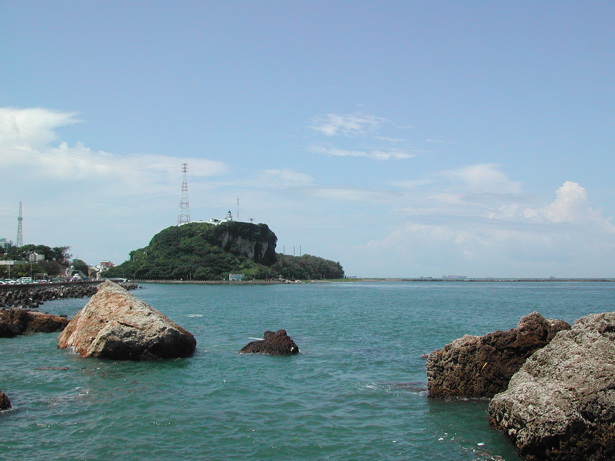
{"type": "Polygon", "coordinates": [[[491,398],[506,390],[510,377],[530,355],[569,328],[563,320],[532,312],[509,331],[455,339],[427,358],[429,396],[491,398]]]}

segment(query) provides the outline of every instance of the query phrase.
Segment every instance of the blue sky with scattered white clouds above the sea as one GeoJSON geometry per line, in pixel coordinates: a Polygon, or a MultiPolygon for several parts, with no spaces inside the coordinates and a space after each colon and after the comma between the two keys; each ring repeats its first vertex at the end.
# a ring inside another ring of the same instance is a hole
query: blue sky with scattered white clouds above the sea
{"type": "Polygon", "coordinates": [[[349,275],[615,272],[606,1],[6,1],[0,236],[268,223],[349,275]],[[235,213],[235,211],[233,211],[235,213]]]}

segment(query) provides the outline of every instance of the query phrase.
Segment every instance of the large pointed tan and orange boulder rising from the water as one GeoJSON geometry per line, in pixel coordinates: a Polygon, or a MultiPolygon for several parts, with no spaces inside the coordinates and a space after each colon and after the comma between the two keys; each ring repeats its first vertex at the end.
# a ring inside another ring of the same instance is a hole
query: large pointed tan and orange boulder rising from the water
{"type": "Polygon", "coordinates": [[[58,337],[81,357],[154,360],[188,357],[196,339],[161,312],[107,280],[58,337]]]}

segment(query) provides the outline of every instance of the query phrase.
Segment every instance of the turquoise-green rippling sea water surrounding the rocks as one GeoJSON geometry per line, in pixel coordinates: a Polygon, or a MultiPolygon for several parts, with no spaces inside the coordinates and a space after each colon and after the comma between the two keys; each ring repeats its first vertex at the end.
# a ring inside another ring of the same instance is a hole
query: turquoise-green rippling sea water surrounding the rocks
{"type": "MultiPolygon", "coordinates": [[[[14,405],[0,413],[0,459],[518,460],[485,401],[426,397],[421,354],[533,310],[567,321],[612,311],[615,287],[143,286],[138,297],[194,334],[194,357],[115,362],[58,350],[57,333],[0,339],[0,390],[14,405]],[[300,355],[237,353],[279,328],[300,355]]],[[[85,301],[44,310],[72,317],[85,301]]]]}

